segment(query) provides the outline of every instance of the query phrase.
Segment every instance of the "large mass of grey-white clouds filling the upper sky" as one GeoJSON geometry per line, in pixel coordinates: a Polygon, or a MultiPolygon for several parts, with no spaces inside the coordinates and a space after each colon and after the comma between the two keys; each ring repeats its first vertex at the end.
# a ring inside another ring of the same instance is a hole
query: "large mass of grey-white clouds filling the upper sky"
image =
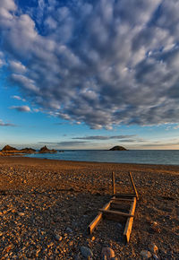
{"type": "Polygon", "coordinates": [[[63,3],[0,2],[1,49],[25,99],[91,128],[179,123],[179,2],[63,3]]]}

